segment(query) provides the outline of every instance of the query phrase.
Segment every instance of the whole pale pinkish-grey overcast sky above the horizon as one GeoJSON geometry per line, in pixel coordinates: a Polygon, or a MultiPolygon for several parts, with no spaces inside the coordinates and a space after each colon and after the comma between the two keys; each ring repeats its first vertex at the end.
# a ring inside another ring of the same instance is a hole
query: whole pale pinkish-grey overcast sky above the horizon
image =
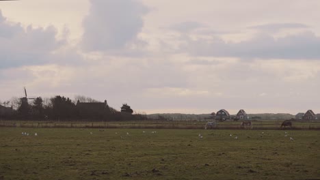
{"type": "Polygon", "coordinates": [[[319,0],[0,1],[0,100],[320,113],[319,0]]]}

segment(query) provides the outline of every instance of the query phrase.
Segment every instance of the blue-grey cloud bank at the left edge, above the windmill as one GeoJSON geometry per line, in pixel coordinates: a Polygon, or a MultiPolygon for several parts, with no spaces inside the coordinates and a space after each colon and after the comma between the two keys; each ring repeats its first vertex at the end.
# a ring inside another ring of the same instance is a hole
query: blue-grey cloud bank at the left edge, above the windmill
{"type": "Polygon", "coordinates": [[[50,26],[26,29],[11,23],[0,11],[0,69],[51,63],[53,52],[65,44],[57,40],[57,30],[50,26]]]}

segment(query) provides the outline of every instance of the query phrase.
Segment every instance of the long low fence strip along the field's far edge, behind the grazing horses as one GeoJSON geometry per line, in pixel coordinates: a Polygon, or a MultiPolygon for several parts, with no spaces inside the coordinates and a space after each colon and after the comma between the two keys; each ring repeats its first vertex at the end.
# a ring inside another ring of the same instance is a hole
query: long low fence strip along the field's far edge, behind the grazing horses
{"type": "MultiPolygon", "coordinates": [[[[144,128],[144,129],[203,129],[206,122],[199,121],[0,121],[1,127],[64,127],[64,128],[144,128]]],[[[241,127],[241,122],[218,122],[216,129],[251,129],[241,127]]],[[[253,121],[254,130],[278,130],[282,121],[253,121]]],[[[289,127],[286,127],[289,128],[289,127]]],[[[320,130],[320,122],[293,122],[292,130],[320,130]]]]}

